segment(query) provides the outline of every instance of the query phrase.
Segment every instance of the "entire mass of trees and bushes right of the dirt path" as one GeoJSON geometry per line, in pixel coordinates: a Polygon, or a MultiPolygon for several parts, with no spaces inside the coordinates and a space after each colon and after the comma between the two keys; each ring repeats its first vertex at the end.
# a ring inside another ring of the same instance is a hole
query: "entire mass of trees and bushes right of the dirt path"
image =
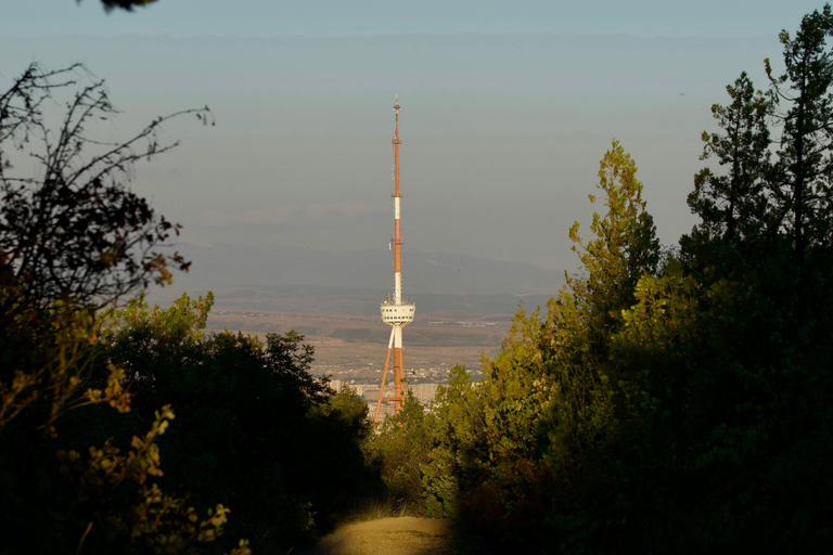
{"type": "Polygon", "coordinates": [[[679,246],[659,248],[614,141],[606,211],[589,241],[569,230],[584,273],[518,310],[478,384],[452,372],[426,448],[382,430],[471,552],[828,551],[832,33],[830,7],[808,14],[767,92],[744,73],[713,106],[718,165],[694,178],[679,246]]]}

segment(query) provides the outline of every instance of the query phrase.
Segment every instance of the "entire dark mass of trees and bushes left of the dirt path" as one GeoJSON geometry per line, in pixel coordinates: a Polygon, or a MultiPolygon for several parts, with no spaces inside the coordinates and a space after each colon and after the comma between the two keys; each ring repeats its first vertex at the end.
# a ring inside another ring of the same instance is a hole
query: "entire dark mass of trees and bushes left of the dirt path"
{"type": "Polygon", "coordinates": [[[131,168],[184,114],[210,121],[110,143],[84,66],[0,93],[0,554],[289,552],[379,489],[367,406],[310,375],[303,336],[206,336],[210,294],[144,302],[188,262],[131,168]]]}

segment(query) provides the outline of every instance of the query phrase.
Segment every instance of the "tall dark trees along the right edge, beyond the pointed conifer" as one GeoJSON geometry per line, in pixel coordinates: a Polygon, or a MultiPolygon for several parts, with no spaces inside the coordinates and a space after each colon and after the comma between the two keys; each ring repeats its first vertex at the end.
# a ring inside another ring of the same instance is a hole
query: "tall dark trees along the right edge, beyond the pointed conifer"
{"type": "Polygon", "coordinates": [[[767,62],[769,96],[744,75],[727,88],[731,104],[714,109],[722,133],[704,133],[727,171],[695,178],[690,206],[703,222],[681,240],[682,263],[643,278],[615,337],[618,356],[645,376],[649,410],[631,437],[665,476],[657,503],[700,522],[689,533],[713,551],[818,551],[829,534],[815,515],[832,483],[815,468],[833,454],[822,447],[820,393],[833,330],[821,308],[830,302],[830,24],[825,7],[795,38],[781,34],[787,69],[776,78],[767,62]],[[770,116],[781,125],[772,154],[770,116]]]}

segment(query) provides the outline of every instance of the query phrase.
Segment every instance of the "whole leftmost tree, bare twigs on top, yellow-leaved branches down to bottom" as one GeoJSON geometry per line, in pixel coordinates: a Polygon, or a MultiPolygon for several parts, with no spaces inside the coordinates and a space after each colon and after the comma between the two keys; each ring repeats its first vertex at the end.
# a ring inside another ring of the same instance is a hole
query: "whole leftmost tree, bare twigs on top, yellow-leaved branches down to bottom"
{"type": "MultiPolygon", "coordinates": [[[[0,553],[203,553],[228,509],[201,519],[159,488],[174,413],[126,434],[125,371],[97,343],[101,304],[184,266],[153,251],[176,227],[121,181],[172,146],[154,138],[167,118],[124,143],[97,141],[87,127],[115,111],[101,81],[76,83],[82,73],[33,65],[0,94],[0,553]],[[50,128],[44,114],[72,89],[50,128]],[[38,178],[13,173],[21,155],[38,178]]],[[[244,540],[227,548],[249,553],[244,540]]]]}

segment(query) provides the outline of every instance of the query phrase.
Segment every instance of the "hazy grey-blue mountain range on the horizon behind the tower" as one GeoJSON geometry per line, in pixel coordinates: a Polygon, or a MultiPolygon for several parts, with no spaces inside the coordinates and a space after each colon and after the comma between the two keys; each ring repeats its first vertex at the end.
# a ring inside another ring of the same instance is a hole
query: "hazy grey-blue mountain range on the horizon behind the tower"
{"type": "MultiPolygon", "coordinates": [[[[376,314],[392,287],[386,250],[347,253],[279,245],[178,245],[192,260],[176,284],[154,289],[149,300],[165,304],[182,292],[210,289],[218,307],[376,314]]],[[[564,283],[563,272],[522,262],[449,253],[408,253],[402,263],[406,298],[419,312],[512,314],[523,300],[543,306],[564,283]]]]}

